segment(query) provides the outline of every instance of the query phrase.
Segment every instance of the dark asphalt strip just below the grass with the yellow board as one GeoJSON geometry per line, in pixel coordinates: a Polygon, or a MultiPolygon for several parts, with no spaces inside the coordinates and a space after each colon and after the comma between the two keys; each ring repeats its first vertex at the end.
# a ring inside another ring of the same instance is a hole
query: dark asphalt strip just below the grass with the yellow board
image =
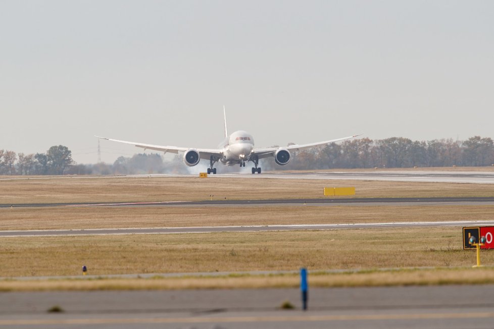
{"type": "Polygon", "coordinates": [[[69,203],[4,203],[0,208],[24,207],[122,207],[122,206],[248,206],[248,205],[341,205],[341,204],[470,204],[492,205],[494,197],[430,197],[430,198],[325,198],[325,199],[265,199],[265,200],[203,200],[153,202],[69,202],[69,203]]]}

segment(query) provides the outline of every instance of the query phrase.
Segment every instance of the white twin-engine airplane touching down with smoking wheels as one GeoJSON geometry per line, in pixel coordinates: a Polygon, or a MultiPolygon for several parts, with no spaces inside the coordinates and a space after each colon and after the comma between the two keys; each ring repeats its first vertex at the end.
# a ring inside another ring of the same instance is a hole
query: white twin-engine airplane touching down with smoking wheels
{"type": "Polygon", "coordinates": [[[261,174],[261,167],[259,167],[259,159],[266,157],[274,157],[274,161],[279,166],[285,166],[291,159],[290,151],[300,151],[303,149],[313,148],[321,145],[326,145],[333,142],[339,142],[346,139],[351,139],[360,135],[354,135],[349,137],[337,138],[326,140],[323,142],[316,142],[310,144],[294,144],[285,147],[254,147],[254,138],[246,131],[238,130],[228,135],[228,129],[226,125],[226,111],[223,106],[223,116],[225,119],[225,139],[218,146],[218,148],[189,148],[189,147],[176,147],[176,146],[161,146],[153,144],[135,143],[124,140],[106,138],[95,136],[97,138],[106,139],[109,141],[125,143],[135,145],[136,147],[143,148],[144,150],[156,150],[164,153],[183,153],[183,162],[188,167],[193,167],[199,163],[201,159],[209,160],[208,174],[216,174],[216,168],[214,165],[216,162],[220,162],[226,166],[240,165],[245,167],[245,163],[252,161],[254,167],[252,167],[252,174],[261,174]]]}

